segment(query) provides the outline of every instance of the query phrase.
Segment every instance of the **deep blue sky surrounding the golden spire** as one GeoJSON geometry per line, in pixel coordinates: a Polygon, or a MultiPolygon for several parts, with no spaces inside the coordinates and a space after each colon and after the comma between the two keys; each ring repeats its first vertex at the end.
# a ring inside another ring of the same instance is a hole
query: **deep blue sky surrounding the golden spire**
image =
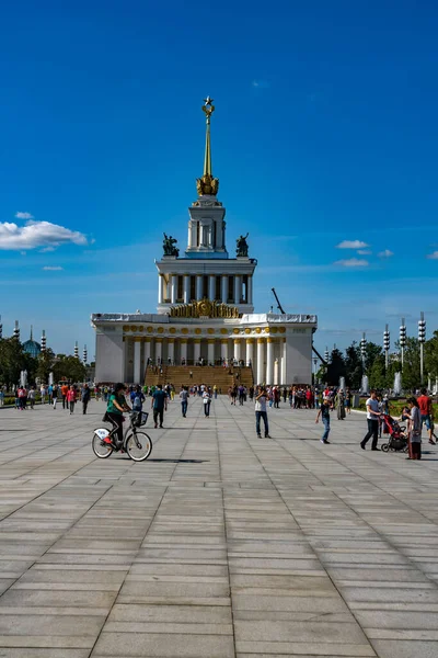
{"type": "Polygon", "coordinates": [[[402,315],[415,334],[420,310],[430,334],[437,30],[438,5],[414,0],[3,2],[3,334],[19,319],[92,356],[91,313],[154,309],[162,231],[186,245],[207,94],[256,310],[276,287],[286,310],[318,314],[321,350],[364,330],[381,342],[387,322],[395,340],[402,315]]]}

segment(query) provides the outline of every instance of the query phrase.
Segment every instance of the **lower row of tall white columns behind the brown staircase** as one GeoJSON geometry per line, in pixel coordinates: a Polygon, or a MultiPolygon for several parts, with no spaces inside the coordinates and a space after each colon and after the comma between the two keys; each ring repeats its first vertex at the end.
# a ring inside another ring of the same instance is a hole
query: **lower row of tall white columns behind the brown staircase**
{"type": "MultiPolygon", "coordinates": [[[[134,383],[143,378],[148,363],[191,365],[204,361],[218,364],[219,361],[238,363],[253,367],[254,381],[266,384],[286,383],[286,338],[235,338],[235,337],[132,337],[125,338],[125,344],[134,342],[134,383]]],[[[125,358],[127,354],[125,350],[125,358]]]]}

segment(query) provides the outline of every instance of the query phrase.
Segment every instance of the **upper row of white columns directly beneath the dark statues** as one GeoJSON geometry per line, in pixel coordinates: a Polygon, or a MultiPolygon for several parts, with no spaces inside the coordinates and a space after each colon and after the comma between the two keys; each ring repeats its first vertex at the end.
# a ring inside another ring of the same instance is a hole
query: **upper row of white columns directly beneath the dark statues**
{"type": "Polygon", "coordinates": [[[195,279],[195,299],[207,297],[222,304],[253,304],[253,277],[251,274],[175,274],[159,276],[159,304],[189,304],[192,302],[192,276],[195,279]],[[218,284],[218,279],[219,284],[218,284]],[[207,280],[207,283],[206,283],[207,280]]]}

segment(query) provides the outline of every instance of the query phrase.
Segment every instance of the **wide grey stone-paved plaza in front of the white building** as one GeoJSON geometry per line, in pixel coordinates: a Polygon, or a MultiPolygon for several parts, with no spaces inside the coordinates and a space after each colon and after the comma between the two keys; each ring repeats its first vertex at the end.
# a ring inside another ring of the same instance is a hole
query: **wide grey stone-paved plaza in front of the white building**
{"type": "Polygon", "coordinates": [[[0,410],[1,657],[438,655],[438,449],[286,406],[257,439],[223,397],[100,461],[104,408],[0,410]]]}

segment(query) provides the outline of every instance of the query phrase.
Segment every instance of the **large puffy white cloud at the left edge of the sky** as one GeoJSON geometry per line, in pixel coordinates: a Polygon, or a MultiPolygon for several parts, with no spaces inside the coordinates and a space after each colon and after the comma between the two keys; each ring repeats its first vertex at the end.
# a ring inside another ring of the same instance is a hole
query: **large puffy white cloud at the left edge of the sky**
{"type": "Polygon", "coordinates": [[[87,237],[78,230],[70,230],[49,222],[28,220],[24,226],[0,223],[0,250],[35,249],[36,247],[59,247],[59,245],[87,245],[87,237]]]}

